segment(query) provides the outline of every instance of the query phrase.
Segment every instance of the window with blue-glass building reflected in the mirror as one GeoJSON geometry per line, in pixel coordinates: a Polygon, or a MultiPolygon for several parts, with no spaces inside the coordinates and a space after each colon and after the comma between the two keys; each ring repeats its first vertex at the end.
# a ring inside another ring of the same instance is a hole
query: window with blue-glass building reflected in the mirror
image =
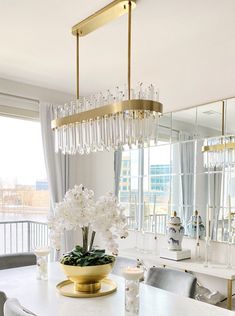
{"type": "Polygon", "coordinates": [[[119,201],[126,208],[130,228],[164,232],[169,209],[170,169],[168,142],[122,153],[119,201]],[[159,227],[154,224],[157,222],[161,223],[159,227]]]}

